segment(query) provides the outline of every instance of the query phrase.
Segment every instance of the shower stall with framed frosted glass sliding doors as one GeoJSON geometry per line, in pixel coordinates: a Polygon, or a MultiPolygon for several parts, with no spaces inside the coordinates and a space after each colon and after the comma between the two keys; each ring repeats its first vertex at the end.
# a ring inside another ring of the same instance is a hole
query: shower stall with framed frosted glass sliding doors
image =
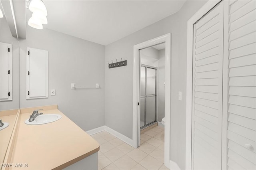
{"type": "Polygon", "coordinates": [[[156,67],[140,67],[140,128],[156,122],[156,67]]]}

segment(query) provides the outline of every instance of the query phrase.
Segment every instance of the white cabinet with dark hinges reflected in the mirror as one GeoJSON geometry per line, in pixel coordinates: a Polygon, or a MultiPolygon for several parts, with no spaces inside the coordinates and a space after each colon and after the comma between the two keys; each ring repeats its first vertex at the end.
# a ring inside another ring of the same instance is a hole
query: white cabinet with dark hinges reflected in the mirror
{"type": "Polygon", "coordinates": [[[12,44],[0,43],[0,101],[12,100],[12,44]]]}

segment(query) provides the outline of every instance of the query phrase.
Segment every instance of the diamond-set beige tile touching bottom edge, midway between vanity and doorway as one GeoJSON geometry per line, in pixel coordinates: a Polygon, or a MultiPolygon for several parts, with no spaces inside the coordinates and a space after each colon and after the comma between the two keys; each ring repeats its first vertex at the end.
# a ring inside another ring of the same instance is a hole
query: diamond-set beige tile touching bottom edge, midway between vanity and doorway
{"type": "Polygon", "coordinates": [[[134,160],[132,160],[132,158],[130,158],[127,155],[122,156],[121,158],[119,158],[118,160],[116,160],[114,162],[114,164],[120,169],[120,170],[130,170],[132,167],[134,167],[137,162],[135,162],[134,160]]]}

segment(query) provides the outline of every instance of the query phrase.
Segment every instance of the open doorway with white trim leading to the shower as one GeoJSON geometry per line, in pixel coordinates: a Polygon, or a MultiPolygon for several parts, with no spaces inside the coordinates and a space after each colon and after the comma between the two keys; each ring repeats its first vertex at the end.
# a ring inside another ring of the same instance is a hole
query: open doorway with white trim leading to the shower
{"type": "MultiPolygon", "coordinates": [[[[143,143],[152,142],[154,146],[154,142],[159,140],[163,143],[162,161],[168,168],[170,167],[170,39],[171,35],[166,34],[134,45],[133,86],[133,145],[138,148],[143,143]]],[[[154,147],[159,147],[160,143],[154,147]]]]}

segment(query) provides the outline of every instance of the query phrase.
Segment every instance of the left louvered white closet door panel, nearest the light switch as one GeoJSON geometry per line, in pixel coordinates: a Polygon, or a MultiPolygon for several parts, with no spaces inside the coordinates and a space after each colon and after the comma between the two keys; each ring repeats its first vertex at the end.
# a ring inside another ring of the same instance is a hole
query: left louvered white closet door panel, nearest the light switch
{"type": "Polygon", "coordinates": [[[192,169],[220,170],[223,2],[194,24],[192,169]]]}

